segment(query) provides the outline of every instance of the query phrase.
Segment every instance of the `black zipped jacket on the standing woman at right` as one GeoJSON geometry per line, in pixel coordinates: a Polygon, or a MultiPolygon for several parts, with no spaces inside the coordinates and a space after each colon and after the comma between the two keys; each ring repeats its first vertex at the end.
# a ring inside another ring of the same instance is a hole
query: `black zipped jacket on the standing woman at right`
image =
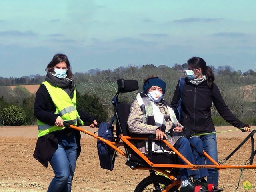
{"type": "MultiPolygon", "coordinates": [[[[176,86],[171,106],[175,110],[180,99],[179,82],[176,86]]],[[[182,117],[180,124],[188,129],[191,134],[208,133],[215,130],[211,118],[212,103],[218,113],[228,123],[237,128],[248,126],[232,114],[226,106],[218,86],[213,83],[212,88],[208,88],[207,82],[204,81],[199,85],[194,85],[185,78],[184,90],[182,93],[182,117]]]]}

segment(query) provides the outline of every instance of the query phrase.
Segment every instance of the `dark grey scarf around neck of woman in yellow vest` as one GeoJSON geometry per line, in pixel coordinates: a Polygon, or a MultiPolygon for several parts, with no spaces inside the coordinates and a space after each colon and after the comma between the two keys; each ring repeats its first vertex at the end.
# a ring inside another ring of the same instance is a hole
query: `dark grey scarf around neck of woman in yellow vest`
{"type": "Polygon", "coordinates": [[[47,72],[45,80],[49,82],[52,86],[62,88],[66,93],[72,98],[75,90],[74,81],[68,78],[58,78],[52,73],[47,72]]]}

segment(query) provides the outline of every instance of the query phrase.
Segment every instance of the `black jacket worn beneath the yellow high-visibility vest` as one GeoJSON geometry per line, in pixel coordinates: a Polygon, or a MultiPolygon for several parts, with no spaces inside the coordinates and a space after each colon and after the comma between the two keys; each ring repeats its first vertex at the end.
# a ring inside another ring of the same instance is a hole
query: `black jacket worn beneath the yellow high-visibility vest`
{"type": "MultiPolygon", "coordinates": [[[[34,104],[34,115],[35,117],[48,124],[48,125],[54,125],[56,118],[58,117],[58,114],[54,114],[56,110],[56,107],[50,97],[50,94],[48,93],[46,87],[44,84],[42,84],[38,91],[36,92],[36,98],[35,98],[35,104],[34,104]]],[[[93,122],[95,119],[94,117],[88,115],[87,113],[83,112],[79,108],[77,108],[78,114],[80,118],[84,122],[93,122]]],[[[77,158],[80,155],[81,152],[81,135],[78,130],[73,129],[64,129],[62,130],[66,132],[67,134],[71,131],[74,131],[76,134],[76,142],[77,142],[77,158]]],[[[48,161],[54,154],[54,152],[58,148],[58,140],[54,137],[54,134],[56,132],[52,132],[50,134],[47,134],[45,136],[39,137],[36,142],[36,148],[34,151],[34,158],[38,160],[43,166],[48,166],[48,161]]]]}

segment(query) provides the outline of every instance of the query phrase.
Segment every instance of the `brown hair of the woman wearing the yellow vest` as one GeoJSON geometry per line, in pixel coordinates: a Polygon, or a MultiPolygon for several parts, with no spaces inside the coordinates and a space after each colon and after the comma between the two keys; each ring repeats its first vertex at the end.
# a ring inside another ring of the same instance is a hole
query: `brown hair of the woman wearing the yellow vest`
{"type": "Polygon", "coordinates": [[[56,64],[61,63],[61,62],[65,62],[67,65],[67,78],[72,79],[73,74],[71,71],[71,67],[69,64],[69,60],[68,57],[64,54],[56,54],[53,56],[52,60],[50,61],[50,63],[47,65],[46,67],[46,71],[54,73],[54,66],[56,66],[56,64]]]}

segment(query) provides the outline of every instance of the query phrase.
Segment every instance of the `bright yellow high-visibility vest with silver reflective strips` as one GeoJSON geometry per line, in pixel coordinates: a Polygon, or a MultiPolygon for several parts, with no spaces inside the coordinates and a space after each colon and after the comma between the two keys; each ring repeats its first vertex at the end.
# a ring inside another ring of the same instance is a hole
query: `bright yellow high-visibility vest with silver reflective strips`
{"type": "MultiPolygon", "coordinates": [[[[42,82],[42,84],[44,84],[44,86],[48,90],[48,93],[50,94],[50,97],[52,98],[52,101],[56,107],[56,111],[54,112],[54,114],[58,114],[64,122],[67,122],[69,124],[77,125],[77,122],[79,122],[82,125],[84,124],[76,110],[76,87],[74,90],[73,97],[71,99],[62,88],[52,86],[47,81],[42,82]]],[[[65,129],[65,127],[58,127],[56,125],[51,126],[45,124],[40,120],[37,120],[37,126],[38,137],[42,137],[46,134],[49,134],[50,132],[65,129]]]]}

